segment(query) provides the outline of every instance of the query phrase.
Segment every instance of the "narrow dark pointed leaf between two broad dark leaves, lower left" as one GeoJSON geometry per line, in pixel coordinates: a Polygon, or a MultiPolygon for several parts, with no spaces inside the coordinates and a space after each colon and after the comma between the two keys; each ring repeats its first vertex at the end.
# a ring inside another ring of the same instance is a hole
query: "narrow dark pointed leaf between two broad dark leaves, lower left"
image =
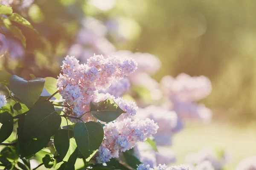
{"type": "Polygon", "coordinates": [[[55,133],[54,146],[57,152],[59,153],[61,159],[64,159],[70,147],[70,138],[68,130],[60,129],[55,133]]]}

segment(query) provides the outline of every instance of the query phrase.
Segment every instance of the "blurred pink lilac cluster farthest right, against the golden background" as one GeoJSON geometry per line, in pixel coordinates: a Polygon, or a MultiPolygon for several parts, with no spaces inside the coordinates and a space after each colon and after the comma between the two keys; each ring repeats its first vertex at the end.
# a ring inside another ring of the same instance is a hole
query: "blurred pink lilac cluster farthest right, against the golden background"
{"type": "Polygon", "coordinates": [[[165,76],[160,83],[163,93],[172,102],[171,109],[181,119],[200,119],[206,122],[211,119],[212,111],[203,104],[196,103],[208,96],[212,90],[207,77],[190,77],[183,73],[176,78],[165,76]]]}

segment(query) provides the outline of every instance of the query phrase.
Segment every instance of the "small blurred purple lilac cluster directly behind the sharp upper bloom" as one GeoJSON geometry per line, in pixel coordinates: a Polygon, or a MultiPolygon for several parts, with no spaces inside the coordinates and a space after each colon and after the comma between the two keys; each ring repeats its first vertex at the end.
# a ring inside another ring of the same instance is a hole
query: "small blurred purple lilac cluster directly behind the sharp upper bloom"
{"type": "Polygon", "coordinates": [[[117,82],[111,82],[111,86],[100,92],[109,93],[115,97],[122,96],[126,91],[130,89],[130,81],[128,78],[123,78],[117,82]]]}

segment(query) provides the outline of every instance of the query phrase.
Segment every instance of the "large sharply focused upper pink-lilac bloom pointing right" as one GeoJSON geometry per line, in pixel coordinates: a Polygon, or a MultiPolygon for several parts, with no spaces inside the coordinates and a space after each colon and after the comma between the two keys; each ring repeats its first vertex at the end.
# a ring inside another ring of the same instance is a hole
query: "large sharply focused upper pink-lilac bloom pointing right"
{"type": "MultiPolygon", "coordinates": [[[[104,58],[94,55],[87,64],[79,64],[75,57],[67,56],[61,66],[63,74],[57,80],[57,88],[65,101],[73,110],[67,111],[73,116],[81,116],[89,111],[90,101],[97,101],[98,91],[108,88],[110,82],[122,79],[134,72],[137,63],[133,59],[117,56],[104,58]]],[[[84,121],[96,120],[88,113],[84,121]]]]}

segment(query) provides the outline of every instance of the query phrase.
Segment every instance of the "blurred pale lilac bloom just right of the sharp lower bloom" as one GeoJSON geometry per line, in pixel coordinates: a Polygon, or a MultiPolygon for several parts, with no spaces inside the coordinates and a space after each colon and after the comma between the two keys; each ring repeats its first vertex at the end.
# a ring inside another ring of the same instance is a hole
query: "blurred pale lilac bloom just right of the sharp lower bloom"
{"type": "Polygon", "coordinates": [[[153,119],[157,122],[159,129],[154,135],[157,145],[171,145],[172,132],[177,126],[177,113],[175,111],[168,111],[162,107],[150,105],[146,108],[140,108],[137,114],[140,119],[153,119]]]}

